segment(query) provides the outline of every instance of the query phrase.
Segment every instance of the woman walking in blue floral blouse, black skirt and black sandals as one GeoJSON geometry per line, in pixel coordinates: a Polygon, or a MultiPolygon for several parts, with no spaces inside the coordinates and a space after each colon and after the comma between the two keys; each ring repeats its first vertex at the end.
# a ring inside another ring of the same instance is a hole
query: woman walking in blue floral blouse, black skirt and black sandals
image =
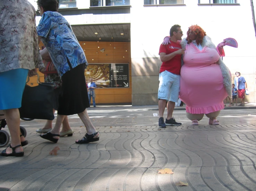
{"type": "Polygon", "coordinates": [[[86,110],[90,103],[85,82],[85,68],[88,65],[85,53],[69,22],[57,12],[59,3],[56,0],[38,0],[37,5],[42,16],[37,27],[38,42],[42,40],[44,43],[62,80],[56,123],[51,131],[40,137],[57,143],[65,115],[78,114],[87,132],[76,143],[98,141],[99,133],[86,110]]]}

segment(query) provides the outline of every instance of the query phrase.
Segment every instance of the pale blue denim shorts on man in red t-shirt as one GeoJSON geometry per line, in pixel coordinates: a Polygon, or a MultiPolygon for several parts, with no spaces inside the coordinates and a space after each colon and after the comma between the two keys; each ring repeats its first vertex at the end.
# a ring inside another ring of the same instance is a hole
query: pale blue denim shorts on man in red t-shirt
{"type": "Polygon", "coordinates": [[[158,99],[178,102],[180,75],[167,70],[159,74],[158,99]]]}

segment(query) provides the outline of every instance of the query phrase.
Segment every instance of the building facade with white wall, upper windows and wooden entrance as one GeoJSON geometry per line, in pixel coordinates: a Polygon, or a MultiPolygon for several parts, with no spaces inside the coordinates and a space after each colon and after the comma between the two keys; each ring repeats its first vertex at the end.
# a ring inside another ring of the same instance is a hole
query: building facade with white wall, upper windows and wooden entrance
{"type": "MultiPolygon", "coordinates": [[[[37,9],[36,3],[30,2],[37,9]]],[[[117,89],[104,88],[101,95],[108,95],[109,100],[98,100],[99,103],[118,103],[125,94],[130,96],[122,102],[132,105],[158,103],[159,46],[174,24],[182,26],[183,37],[189,26],[198,24],[215,45],[225,38],[235,38],[238,48],[224,47],[223,61],[231,71],[232,80],[236,71],[246,79],[250,91],[246,101],[256,102],[256,48],[248,46],[255,44],[256,38],[249,0],[60,0],[59,12],[70,22],[81,44],[124,43],[119,54],[106,53],[97,62],[92,60],[97,50],[85,49],[89,63],[129,64],[129,88],[118,90],[121,96],[116,96],[116,100],[113,93],[117,89]],[[107,60],[110,54],[113,60],[107,60]],[[114,60],[116,57],[120,59],[114,60]]],[[[37,23],[40,19],[38,13],[37,23]]],[[[109,46],[109,49],[104,47],[106,51],[115,47],[109,46]]]]}

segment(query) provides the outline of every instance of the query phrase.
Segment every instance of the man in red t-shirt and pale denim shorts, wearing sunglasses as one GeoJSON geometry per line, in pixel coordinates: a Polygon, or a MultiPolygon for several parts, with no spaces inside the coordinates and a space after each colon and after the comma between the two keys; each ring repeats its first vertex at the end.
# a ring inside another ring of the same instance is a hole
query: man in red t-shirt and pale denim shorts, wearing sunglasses
{"type": "Polygon", "coordinates": [[[185,49],[182,49],[178,40],[182,40],[183,32],[178,24],[170,29],[170,42],[167,45],[160,45],[159,55],[162,65],[159,73],[158,88],[158,109],[159,127],[165,128],[166,125],[181,125],[172,117],[175,102],[179,97],[179,79],[181,68],[181,56],[185,49]],[[164,111],[167,102],[167,118],[164,121],[164,111]]]}

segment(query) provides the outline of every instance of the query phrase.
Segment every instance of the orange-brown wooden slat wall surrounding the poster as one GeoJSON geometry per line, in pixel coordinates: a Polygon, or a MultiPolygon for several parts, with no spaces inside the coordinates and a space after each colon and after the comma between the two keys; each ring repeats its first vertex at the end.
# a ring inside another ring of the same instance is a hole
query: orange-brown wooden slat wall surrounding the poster
{"type": "MultiPolygon", "coordinates": [[[[97,103],[131,103],[132,102],[132,68],[131,68],[131,43],[130,42],[102,42],[79,41],[85,51],[88,63],[129,63],[129,87],[130,88],[97,88],[97,103]],[[99,48],[98,48],[99,47],[99,48]],[[105,49],[101,52],[101,49],[105,49]]],[[[39,44],[42,47],[43,43],[39,44]]],[[[40,73],[43,81],[43,74],[40,73]]],[[[36,86],[36,77],[30,78],[29,86],[36,86]],[[33,84],[31,84],[33,83],[33,84]]],[[[88,83],[88,82],[87,82],[88,83]]],[[[92,103],[92,100],[91,100],[92,103]]]]}

